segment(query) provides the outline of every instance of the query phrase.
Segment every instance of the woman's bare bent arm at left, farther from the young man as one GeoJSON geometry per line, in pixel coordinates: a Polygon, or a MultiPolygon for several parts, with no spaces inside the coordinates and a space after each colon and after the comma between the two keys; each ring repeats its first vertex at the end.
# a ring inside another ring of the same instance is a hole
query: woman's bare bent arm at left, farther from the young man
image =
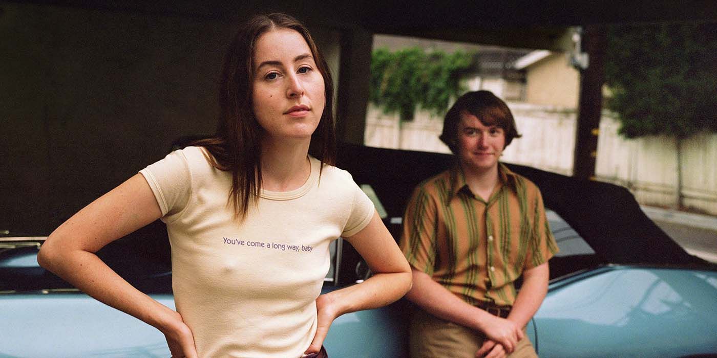
{"type": "Polygon", "coordinates": [[[194,339],[181,316],[135,289],[95,255],[160,216],[148,183],[141,174],[134,175],[55,229],[37,262],[95,299],[155,326],[167,338],[173,357],[196,357],[194,339]]]}

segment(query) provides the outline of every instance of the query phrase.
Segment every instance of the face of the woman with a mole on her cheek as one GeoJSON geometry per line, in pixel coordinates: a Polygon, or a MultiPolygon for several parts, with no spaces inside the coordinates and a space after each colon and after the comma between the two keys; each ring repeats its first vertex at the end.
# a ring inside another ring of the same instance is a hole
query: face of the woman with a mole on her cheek
{"type": "Polygon", "coordinates": [[[323,76],[295,30],[274,29],[257,39],[252,105],[269,137],[310,139],[318,126],[326,105],[323,76]]]}

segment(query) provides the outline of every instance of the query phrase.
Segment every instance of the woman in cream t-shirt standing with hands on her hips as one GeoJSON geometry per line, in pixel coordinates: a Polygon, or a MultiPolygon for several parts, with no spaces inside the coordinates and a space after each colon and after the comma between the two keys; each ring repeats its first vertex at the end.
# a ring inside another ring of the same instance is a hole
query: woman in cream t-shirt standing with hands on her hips
{"type": "Polygon", "coordinates": [[[173,357],[318,353],[333,319],[389,304],[411,286],[408,263],[370,200],[329,165],[332,97],[305,27],[282,14],[255,16],[224,64],[217,135],[87,205],[47,238],[39,263],[155,326],[173,357]],[[95,255],[157,218],[167,223],[177,311],[95,255]],[[375,274],[319,296],[338,236],[375,274]]]}

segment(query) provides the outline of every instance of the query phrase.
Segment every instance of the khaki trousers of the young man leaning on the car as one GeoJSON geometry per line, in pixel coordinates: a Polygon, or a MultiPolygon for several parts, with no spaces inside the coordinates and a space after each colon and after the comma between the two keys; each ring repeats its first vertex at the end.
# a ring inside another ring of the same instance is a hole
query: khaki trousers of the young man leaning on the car
{"type": "MultiPolygon", "coordinates": [[[[483,333],[414,309],[409,329],[411,358],[475,358],[483,333]]],[[[530,339],[521,339],[508,358],[537,358],[530,339]]]]}

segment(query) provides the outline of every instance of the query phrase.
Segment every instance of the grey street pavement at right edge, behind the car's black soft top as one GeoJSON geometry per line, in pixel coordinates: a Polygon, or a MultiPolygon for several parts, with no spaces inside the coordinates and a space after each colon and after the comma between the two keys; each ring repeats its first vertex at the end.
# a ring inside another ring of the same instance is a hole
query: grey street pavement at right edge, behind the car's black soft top
{"type": "Polygon", "coordinates": [[[717,263],[717,217],[642,205],[655,221],[685,251],[717,263]]]}

